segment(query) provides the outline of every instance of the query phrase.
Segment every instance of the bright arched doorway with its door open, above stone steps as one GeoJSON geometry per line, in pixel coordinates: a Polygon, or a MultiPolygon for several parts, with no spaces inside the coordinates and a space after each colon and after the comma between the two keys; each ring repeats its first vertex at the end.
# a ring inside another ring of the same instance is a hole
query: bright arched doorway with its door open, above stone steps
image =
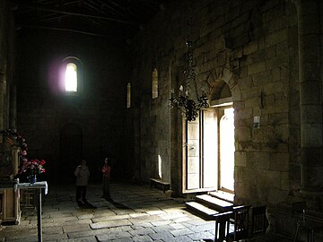
{"type": "Polygon", "coordinates": [[[216,89],[211,108],[195,121],[184,121],[183,192],[234,193],[234,109],[224,83],[216,89]]]}

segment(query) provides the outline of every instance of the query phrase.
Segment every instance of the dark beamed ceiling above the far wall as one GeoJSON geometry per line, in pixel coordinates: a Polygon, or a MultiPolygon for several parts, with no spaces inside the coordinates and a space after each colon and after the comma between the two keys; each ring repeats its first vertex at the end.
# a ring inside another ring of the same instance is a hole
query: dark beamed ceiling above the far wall
{"type": "Polygon", "coordinates": [[[165,0],[10,0],[18,28],[78,32],[127,41],[165,0]]]}

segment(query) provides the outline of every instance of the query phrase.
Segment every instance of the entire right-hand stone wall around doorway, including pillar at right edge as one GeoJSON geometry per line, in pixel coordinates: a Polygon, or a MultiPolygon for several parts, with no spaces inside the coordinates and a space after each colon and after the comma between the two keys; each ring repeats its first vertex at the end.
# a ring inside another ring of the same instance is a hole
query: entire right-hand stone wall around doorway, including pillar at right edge
{"type": "Polygon", "coordinates": [[[183,126],[179,111],[167,105],[170,89],[179,87],[185,42],[193,40],[198,87],[206,87],[209,96],[217,82],[231,89],[234,202],[266,204],[270,229],[286,236],[295,232],[286,226],[295,224],[295,201],[306,200],[307,219],[321,222],[322,7],[315,0],[163,4],[132,46],[136,101],[129,115],[139,120],[134,125],[138,176],[156,177],[160,154],[162,178],[176,194],[182,192],[183,126]],[[159,71],[158,99],[152,99],[153,68],[159,71]],[[260,128],[253,127],[253,117],[260,117],[260,128]]]}

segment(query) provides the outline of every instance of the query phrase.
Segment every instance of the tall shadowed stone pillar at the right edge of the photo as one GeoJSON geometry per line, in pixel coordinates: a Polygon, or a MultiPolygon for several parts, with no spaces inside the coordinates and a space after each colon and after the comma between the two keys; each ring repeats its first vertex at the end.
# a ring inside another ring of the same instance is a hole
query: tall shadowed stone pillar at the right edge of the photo
{"type": "Polygon", "coordinates": [[[301,190],[323,189],[319,0],[297,0],[301,109],[301,190]]]}

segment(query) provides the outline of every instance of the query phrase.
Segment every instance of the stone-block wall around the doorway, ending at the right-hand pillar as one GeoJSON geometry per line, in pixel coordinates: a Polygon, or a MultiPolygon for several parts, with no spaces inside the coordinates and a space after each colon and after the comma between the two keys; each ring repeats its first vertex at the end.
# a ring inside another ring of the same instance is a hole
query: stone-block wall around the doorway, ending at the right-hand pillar
{"type": "MultiPolygon", "coordinates": [[[[287,1],[179,1],[135,39],[133,82],[140,99],[136,155],[144,180],[162,154],[164,179],[180,183],[181,122],[170,124],[170,87],[177,88],[185,41],[196,41],[198,86],[209,94],[227,82],[235,108],[235,202],[277,204],[300,186],[300,115],[296,8],[287,1]],[[158,99],[151,73],[159,71],[158,99]],[[253,117],[261,118],[259,129],[253,117]],[[170,128],[179,134],[170,138],[170,128]],[[173,140],[178,141],[171,145],[173,140]],[[171,153],[177,160],[169,160],[171,153]],[[174,165],[175,164],[175,165],[174,165]],[[170,169],[178,168],[177,170],[170,169]]],[[[177,114],[173,114],[177,115],[177,114]]],[[[172,186],[179,186],[180,184],[172,186]]]]}

